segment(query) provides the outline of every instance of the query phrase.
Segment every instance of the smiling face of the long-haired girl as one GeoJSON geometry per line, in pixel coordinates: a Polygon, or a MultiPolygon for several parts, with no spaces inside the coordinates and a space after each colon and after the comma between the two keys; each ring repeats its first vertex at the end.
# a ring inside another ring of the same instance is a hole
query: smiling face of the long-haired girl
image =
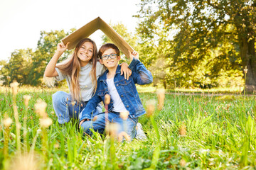
{"type": "Polygon", "coordinates": [[[85,66],[90,62],[93,55],[93,45],[92,42],[85,42],[82,44],[78,50],[78,58],[80,60],[81,67],[85,66]]]}

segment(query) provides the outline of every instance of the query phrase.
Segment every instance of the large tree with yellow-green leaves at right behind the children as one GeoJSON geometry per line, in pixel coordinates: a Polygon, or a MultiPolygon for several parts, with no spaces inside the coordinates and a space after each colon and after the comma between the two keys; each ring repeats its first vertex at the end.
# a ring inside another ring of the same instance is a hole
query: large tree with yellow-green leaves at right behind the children
{"type": "Polygon", "coordinates": [[[256,87],[254,1],[143,0],[139,6],[138,33],[144,39],[157,38],[159,28],[173,33],[167,40],[174,50],[169,55],[173,59],[170,66],[194,72],[207,60],[210,75],[205,77],[212,79],[223,70],[247,67],[247,90],[256,87]]]}

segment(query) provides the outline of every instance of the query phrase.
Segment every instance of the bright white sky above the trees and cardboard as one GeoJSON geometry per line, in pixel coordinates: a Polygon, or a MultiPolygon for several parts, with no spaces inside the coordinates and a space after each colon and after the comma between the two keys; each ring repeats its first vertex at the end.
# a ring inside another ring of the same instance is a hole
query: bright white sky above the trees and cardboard
{"type": "MultiPolygon", "coordinates": [[[[0,0],[0,60],[18,49],[36,49],[41,30],[81,28],[100,16],[107,23],[123,23],[134,32],[139,0],[0,0]]],[[[101,44],[97,30],[90,38],[101,44]]]]}

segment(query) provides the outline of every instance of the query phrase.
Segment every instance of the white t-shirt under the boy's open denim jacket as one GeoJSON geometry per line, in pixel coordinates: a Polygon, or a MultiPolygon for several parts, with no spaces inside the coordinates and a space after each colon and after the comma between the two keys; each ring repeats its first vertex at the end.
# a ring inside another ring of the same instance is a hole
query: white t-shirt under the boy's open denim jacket
{"type": "Polygon", "coordinates": [[[110,98],[113,101],[113,111],[115,112],[123,112],[127,111],[124,107],[124,103],[117,92],[117,88],[114,86],[114,77],[111,79],[107,79],[107,89],[110,91],[110,98]]]}

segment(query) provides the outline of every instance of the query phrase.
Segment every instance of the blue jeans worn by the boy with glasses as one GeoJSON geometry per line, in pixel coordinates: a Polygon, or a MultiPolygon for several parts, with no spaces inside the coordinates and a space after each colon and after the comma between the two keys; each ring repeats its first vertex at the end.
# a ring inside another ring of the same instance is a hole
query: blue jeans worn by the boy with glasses
{"type": "MultiPolygon", "coordinates": [[[[120,118],[119,113],[107,113],[108,120],[110,123],[117,123],[119,125],[119,129],[117,130],[117,134],[120,132],[127,132],[127,134],[133,139],[136,135],[136,125],[138,123],[138,118],[128,118],[127,120],[123,120],[120,118]]],[[[92,135],[90,129],[94,130],[95,132],[103,133],[105,130],[105,113],[97,114],[97,120],[87,120],[82,123],[80,129],[83,130],[88,135],[92,135]]]]}

